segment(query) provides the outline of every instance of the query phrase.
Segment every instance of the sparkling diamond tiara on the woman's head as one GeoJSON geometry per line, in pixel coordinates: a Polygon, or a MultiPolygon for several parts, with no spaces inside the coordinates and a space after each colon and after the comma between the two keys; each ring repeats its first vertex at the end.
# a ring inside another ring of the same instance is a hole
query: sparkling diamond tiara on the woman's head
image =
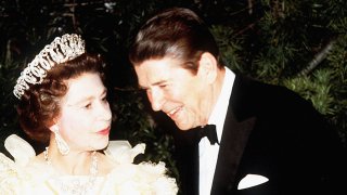
{"type": "Polygon", "coordinates": [[[13,94],[21,100],[24,92],[29,89],[29,84],[41,83],[47,76],[47,72],[54,65],[76,58],[83,53],[85,40],[79,35],[65,34],[62,37],[56,37],[21,73],[13,94]]]}

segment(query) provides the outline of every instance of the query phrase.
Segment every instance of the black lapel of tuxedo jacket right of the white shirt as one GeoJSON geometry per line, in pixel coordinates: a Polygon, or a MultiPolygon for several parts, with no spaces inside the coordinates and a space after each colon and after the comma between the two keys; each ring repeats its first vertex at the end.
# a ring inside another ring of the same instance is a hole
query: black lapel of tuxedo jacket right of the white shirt
{"type": "Polygon", "coordinates": [[[255,121],[256,118],[252,117],[239,122],[232,110],[228,112],[211,194],[228,194],[234,186],[237,167],[255,121]]]}

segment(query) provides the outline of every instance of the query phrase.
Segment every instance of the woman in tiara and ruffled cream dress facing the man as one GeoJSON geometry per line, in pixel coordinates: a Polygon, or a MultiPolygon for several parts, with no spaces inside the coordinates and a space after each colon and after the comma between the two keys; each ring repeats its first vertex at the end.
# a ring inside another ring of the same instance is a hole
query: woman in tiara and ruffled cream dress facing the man
{"type": "Polygon", "coordinates": [[[0,153],[0,194],[176,194],[165,165],[133,165],[144,144],[108,141],[112,113],[103,61],[85,52],[78,35],[44,47],[14,87],[24,131],[48,144],[36,155],[13,134],[0,153]]]}

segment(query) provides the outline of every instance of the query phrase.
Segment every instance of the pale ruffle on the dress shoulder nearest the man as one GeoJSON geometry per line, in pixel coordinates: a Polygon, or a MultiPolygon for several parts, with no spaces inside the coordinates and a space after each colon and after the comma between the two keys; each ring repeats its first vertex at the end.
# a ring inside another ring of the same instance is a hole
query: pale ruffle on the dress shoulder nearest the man
{"type": "Polygon", "coordinates": [[[111,141],[104,151],[106,156],[118,165],[106,178],[105,188],[114,194],[160,194],[176,195],[176,180],[166,176],[163,161],[133,165],[133,158],[143,154],[145,144],[131,147],[128,141],[111,141]]]}

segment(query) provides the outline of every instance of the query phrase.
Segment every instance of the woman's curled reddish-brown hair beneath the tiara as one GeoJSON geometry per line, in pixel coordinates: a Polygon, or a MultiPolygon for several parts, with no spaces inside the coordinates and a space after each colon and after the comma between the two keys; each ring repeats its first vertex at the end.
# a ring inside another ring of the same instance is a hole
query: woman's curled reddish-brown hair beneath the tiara
{"type": "Polygon", "coordinates": [[[47,143],[49,127],[61,112],[61,99],[67,93],[66,81],[86,73],[97,73],[104,81],[104,62],[100,55],[83,53],[48,70],[39,84],[25,91],[17,106],[20,123],[33,140],[47,143]]]}

